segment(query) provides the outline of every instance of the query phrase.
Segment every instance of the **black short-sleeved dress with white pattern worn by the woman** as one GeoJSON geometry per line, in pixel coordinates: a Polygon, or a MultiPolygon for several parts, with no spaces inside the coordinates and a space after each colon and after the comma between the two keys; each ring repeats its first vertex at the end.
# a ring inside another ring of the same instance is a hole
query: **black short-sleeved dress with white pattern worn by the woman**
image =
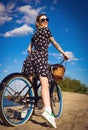
{"type": "Polygon", "coordinates": [[[52,37],[48,28],[39,28],[31,39],[32,52],[23,63],[22,73],[26,75],[44,76],[50,79],[48,65],[48,46],[52,37]]]}

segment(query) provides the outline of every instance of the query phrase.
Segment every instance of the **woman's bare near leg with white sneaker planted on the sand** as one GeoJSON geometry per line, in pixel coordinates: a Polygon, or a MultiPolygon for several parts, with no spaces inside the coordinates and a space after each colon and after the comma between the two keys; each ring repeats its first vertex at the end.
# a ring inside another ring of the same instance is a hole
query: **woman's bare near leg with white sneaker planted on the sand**
{"type": "Polygon", "coordinates": [[[45,111],[42,113],[42,117],[46,119],[51,126],[57,128],[55,118],[52,115],[50,106],[50,94],[49,94],[49,83],[47,77],[40,76],[40,82],[42,86],[42,99],[44,102],[45,111]]]}

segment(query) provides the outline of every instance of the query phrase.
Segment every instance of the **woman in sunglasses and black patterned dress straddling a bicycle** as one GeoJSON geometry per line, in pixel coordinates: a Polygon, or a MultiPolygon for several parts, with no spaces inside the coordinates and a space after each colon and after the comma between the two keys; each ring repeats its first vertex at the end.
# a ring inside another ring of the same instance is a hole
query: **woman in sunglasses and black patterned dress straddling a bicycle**
{"type": "Polygon", "coordinates": [[[31,39],[28,47],[30,56],[24,62],[22,71],[28,74],[32,80],[33,75],[39,77],[42,86],[42,99],[44,103],[44,112],[42,117],[45,118],[54,128],[56,128],[55,118],[52,115],[49,95],[49,69],[48,69],[48,46],[51,41],[56,49],[68,59],[60,45],[54,40],[48,29],[49,19],[45,14],[36,18],[36,32],[31,39]]]}

